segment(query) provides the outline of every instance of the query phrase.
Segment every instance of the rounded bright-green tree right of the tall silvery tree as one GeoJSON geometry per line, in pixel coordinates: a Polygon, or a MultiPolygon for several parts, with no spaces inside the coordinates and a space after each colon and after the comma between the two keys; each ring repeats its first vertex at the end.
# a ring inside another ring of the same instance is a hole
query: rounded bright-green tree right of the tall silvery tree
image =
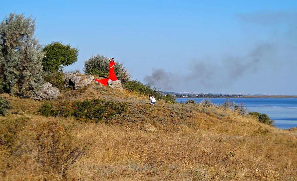
{"type": "Polygon", "coordinates": [[[79,50],[71,47],[70,44],[65,45],[62,42],[52,42],[46,45],[42,52],[45,52],[45,57],[42,60],[43,70],[59,72],[64,66],[77,62],[79,50]]]}

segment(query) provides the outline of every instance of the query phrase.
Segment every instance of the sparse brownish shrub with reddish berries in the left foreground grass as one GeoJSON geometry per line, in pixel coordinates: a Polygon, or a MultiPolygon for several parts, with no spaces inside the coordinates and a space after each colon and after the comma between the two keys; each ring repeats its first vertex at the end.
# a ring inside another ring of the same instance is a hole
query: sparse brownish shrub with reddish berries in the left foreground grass
{"type": "Polygon", "coordinates": [[[90,143],[80,143],[75,139],[75,126],[59,121],[48,121],[36,128],[34,158],[45,173],[53,172],[65,178],[64,170],[78,161],[89,148],[90,143]]]}

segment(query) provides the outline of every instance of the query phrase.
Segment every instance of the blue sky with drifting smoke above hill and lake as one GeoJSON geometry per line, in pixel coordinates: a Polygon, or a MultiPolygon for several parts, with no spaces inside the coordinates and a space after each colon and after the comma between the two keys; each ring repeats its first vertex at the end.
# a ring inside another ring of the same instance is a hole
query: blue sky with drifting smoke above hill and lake
{"type": "Polygon", "coordinates": [[[162,91],[297,94],[297,1],[3,1],[62,41],[162,91]]]}

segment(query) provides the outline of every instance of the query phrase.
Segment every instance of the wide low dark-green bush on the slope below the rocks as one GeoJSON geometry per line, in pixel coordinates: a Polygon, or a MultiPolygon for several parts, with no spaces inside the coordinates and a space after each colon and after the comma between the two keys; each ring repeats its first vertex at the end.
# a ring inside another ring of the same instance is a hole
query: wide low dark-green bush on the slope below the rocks
{"type": "Polygon", "coordinates": [[[38,112],[42,116],[74,116],[80,121],[99,122],[127,111],[128,102],[105,99],[75,100],[73,102],[45,102],[38,112]]]}

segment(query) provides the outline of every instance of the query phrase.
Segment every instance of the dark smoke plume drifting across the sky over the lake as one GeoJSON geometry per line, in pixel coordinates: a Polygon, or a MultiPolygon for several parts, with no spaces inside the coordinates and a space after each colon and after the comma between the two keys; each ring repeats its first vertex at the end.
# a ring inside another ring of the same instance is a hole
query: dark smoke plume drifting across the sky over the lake
{"type": "MultiPolygon", "coordinates": [[[[237,79],[249,77],[259,71],[266,69],[279,71],[282,66],[290,66],[289,63],[296,64],[296,15],[296,13],[285,12],[238,15],[243,22],[268,27],[285,23],[287,26],[285,28],[281,26],[282,31],[277,31],[278,34],[268,32],[271,33],[272,39],[255,45],[255,48],[245,56],[225,55],[217,61],[211,57],[193,58],[182,74],[177,75],[163,69],[155,69],[151,76],[145,76],[144,81],[167,91],[173,91],[175,86],[181,87],[187,84],[207,89],[220,89],[230,87],[237,79]]],[[[268,77],[269,74],[265,76],[268,77]]]]}

